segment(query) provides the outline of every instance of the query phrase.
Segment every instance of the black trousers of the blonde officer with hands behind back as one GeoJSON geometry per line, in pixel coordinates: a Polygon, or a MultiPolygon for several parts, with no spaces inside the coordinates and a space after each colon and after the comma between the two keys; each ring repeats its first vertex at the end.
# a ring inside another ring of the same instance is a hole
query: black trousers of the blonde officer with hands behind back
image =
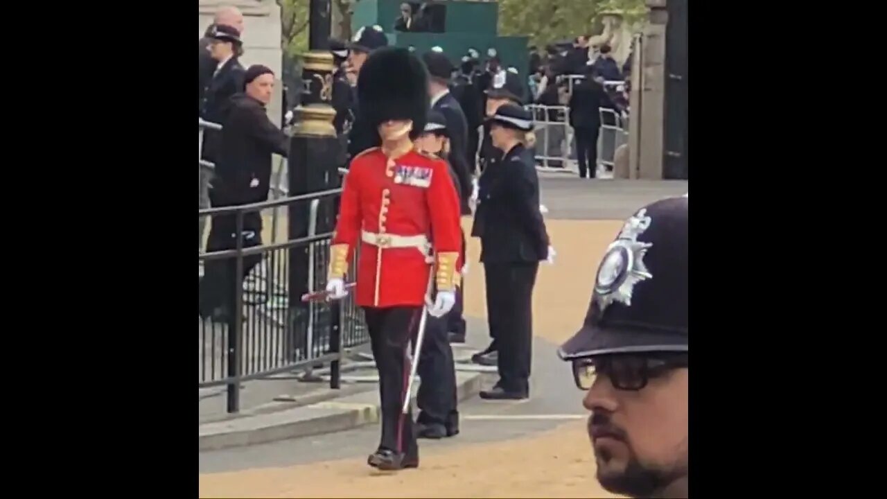
{"type": "Polygon", "coordinates": [[[487,317],[498,344],[498,385],[506,392],[530,392],[533,286],[538,262],[483,264],[487,317]]]}

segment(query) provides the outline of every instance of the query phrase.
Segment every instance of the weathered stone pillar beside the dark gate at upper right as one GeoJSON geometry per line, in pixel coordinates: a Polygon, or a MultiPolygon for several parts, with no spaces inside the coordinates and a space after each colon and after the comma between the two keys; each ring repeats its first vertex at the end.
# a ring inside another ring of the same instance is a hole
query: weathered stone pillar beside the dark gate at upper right
{"type": "MultiPolygon", "coordinates": [[[[666,0],[647,0],[648,23],[640,47],[640,67],[633,73],[639,77],[636,99],[639,106],[631,143],[632,171],[638,178],[663,178],[663,125],[665,102],[665,26],[668,13],[666,0]]],[[[632,120],[632,122],[635,120],[632,120]]]]}

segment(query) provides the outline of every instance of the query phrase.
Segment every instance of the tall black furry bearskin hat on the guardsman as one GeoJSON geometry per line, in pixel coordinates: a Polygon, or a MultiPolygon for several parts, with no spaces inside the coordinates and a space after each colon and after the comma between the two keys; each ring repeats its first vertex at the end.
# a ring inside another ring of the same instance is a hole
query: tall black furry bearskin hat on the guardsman
{"type": "Polygon", "coordinates": [[[358,113],[373,130],[389,120],[412,120],[416,139],[428,119],[428,70],[410,51],[385,47],[373,51],[357,77],[358,113]]]}

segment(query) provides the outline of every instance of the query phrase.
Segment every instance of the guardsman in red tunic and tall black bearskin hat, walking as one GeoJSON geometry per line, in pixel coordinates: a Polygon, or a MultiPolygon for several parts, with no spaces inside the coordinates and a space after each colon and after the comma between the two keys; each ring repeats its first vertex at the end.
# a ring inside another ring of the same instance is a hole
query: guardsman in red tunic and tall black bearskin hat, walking
{"type": "Polygon", "coordinates": [[[409,344],[425,322],[423,307],[443,317],[456,301],[459,194],[447,163],[413,145],[429,107],[428,73],[420,59],[403,48],[374,51],[361,68],[357,98],[358,113],[381,146],[351,160],[326,290],[334,298],[347,295],[344,279],[359,244],[357,305],[370,332],[382,412],[379,448],[367,463],[381,470],[415,468],[412,411],[402,411],[410,397],[409,344]]]}

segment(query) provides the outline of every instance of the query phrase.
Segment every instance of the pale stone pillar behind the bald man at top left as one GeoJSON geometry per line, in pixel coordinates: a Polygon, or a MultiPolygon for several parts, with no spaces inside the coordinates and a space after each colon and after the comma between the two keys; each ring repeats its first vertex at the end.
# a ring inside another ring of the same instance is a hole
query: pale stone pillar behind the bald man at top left
{"type": "Polygon", "coordinates": [[[203,36],[213,22],[216,9],[233,5],[243,12],[243,57],[240,64],[249,67],[262,64],[274,71],[274,97],[268,106],[271,121],[280,124],[283,106],[282,73],[283,51],[280,49],[280,6],[274,0],[198,0],[199,36],[203,36]]]}

